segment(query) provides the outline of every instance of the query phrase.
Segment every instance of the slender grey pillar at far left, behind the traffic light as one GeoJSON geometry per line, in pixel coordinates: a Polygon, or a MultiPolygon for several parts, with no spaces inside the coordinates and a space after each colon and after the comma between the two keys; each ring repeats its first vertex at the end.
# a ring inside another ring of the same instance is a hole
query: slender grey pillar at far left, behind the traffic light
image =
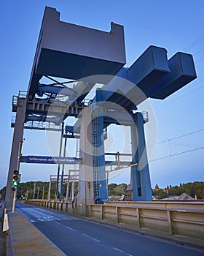
{"type": "Polygon", "coordinates": [[[12,210],[13,192],[11,189],[13,171],[18,170],[20,161],[20,143],[23,140],[23,128],[26,115],[26,99],[17,99],[17,110],[15,118],[15,128],[12,139],[12,151],[9,162],[9,172],[7,176],[7,191],[5,198],[5,205],[8,211],[12,210]]]}

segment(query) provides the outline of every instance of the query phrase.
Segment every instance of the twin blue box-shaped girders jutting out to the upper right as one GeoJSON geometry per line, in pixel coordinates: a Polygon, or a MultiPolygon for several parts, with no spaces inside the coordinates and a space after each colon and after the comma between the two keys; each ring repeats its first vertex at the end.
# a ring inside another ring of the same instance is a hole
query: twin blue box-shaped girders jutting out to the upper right
{"type": "Polygon", "coordinates": [[[164,48],[149,46],[131,67],[122,68],[102,87],[103,102],[134,110],[147,97],[165,99],[197,78],[192,55],[176,53],[168,60],[166,53],[164,48]]]}

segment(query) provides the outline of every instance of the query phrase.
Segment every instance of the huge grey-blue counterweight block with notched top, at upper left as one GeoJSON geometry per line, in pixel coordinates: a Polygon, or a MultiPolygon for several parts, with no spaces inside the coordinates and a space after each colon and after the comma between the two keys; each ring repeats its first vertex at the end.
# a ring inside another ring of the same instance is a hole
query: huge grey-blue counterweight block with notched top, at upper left
{"type": "Polygon", "coordinates": [[[61,22],[59,12],[45,7],[28,99],[34,99],[43,75],[76,80],[116,75],[125,63],[123,26],[111,23],[111,31],[105,32],[61,22]]]}

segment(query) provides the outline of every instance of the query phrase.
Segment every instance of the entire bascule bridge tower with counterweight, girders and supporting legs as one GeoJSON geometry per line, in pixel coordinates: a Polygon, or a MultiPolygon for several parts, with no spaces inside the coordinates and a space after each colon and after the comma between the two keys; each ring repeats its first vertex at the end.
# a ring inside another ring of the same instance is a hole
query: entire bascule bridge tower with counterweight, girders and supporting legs
{"type": "Polygon", "coordinates": [[[57,10],[45,8],[28,91],[13,102],[16,118],[12,123],[15,129],[7,179],[8,209],[12,206],[13,170],[19,162],[29,162],[19,152],[23,129],[56,129],[52,125],[59,126],[68,116],[77,119],[74,126],[66,127],[66,135],[80,138],[79,214],[86,214],[90,203],[107,200],[106,165],[130,166],[132,200],[152,200],[145,120],[137,106],[149,97],[165,99],[194,80],[195,64],[190,54],[178,52],[168,59],[165,48],[153,45],[130,67],[125,64],[123,26],[111,23],[109,32],[90,29],[62,22],[57,10]],[[52,83],[44,84],[42,78],[52,83]],[[86,102],[87,94],[97,84],[103,86],[86,102]],[[106,160],[106,155],[115,155],[104,150],[110,124],[130,127],[129,162],[119,161],[119,153],[114,161],[106,160]]]}

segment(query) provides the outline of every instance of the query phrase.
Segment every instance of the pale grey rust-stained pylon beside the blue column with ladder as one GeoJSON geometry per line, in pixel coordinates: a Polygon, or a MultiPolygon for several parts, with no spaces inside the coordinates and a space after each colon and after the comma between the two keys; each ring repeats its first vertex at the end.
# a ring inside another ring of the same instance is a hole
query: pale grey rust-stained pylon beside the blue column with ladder
{"type": "Polygon", "coordinates": [[[79,167],[77,211],[78,214],[88,215],[88,206],[94,203],[92,116],[90,107],[83,110],[80,137],[82,165],[79,167]]]}

